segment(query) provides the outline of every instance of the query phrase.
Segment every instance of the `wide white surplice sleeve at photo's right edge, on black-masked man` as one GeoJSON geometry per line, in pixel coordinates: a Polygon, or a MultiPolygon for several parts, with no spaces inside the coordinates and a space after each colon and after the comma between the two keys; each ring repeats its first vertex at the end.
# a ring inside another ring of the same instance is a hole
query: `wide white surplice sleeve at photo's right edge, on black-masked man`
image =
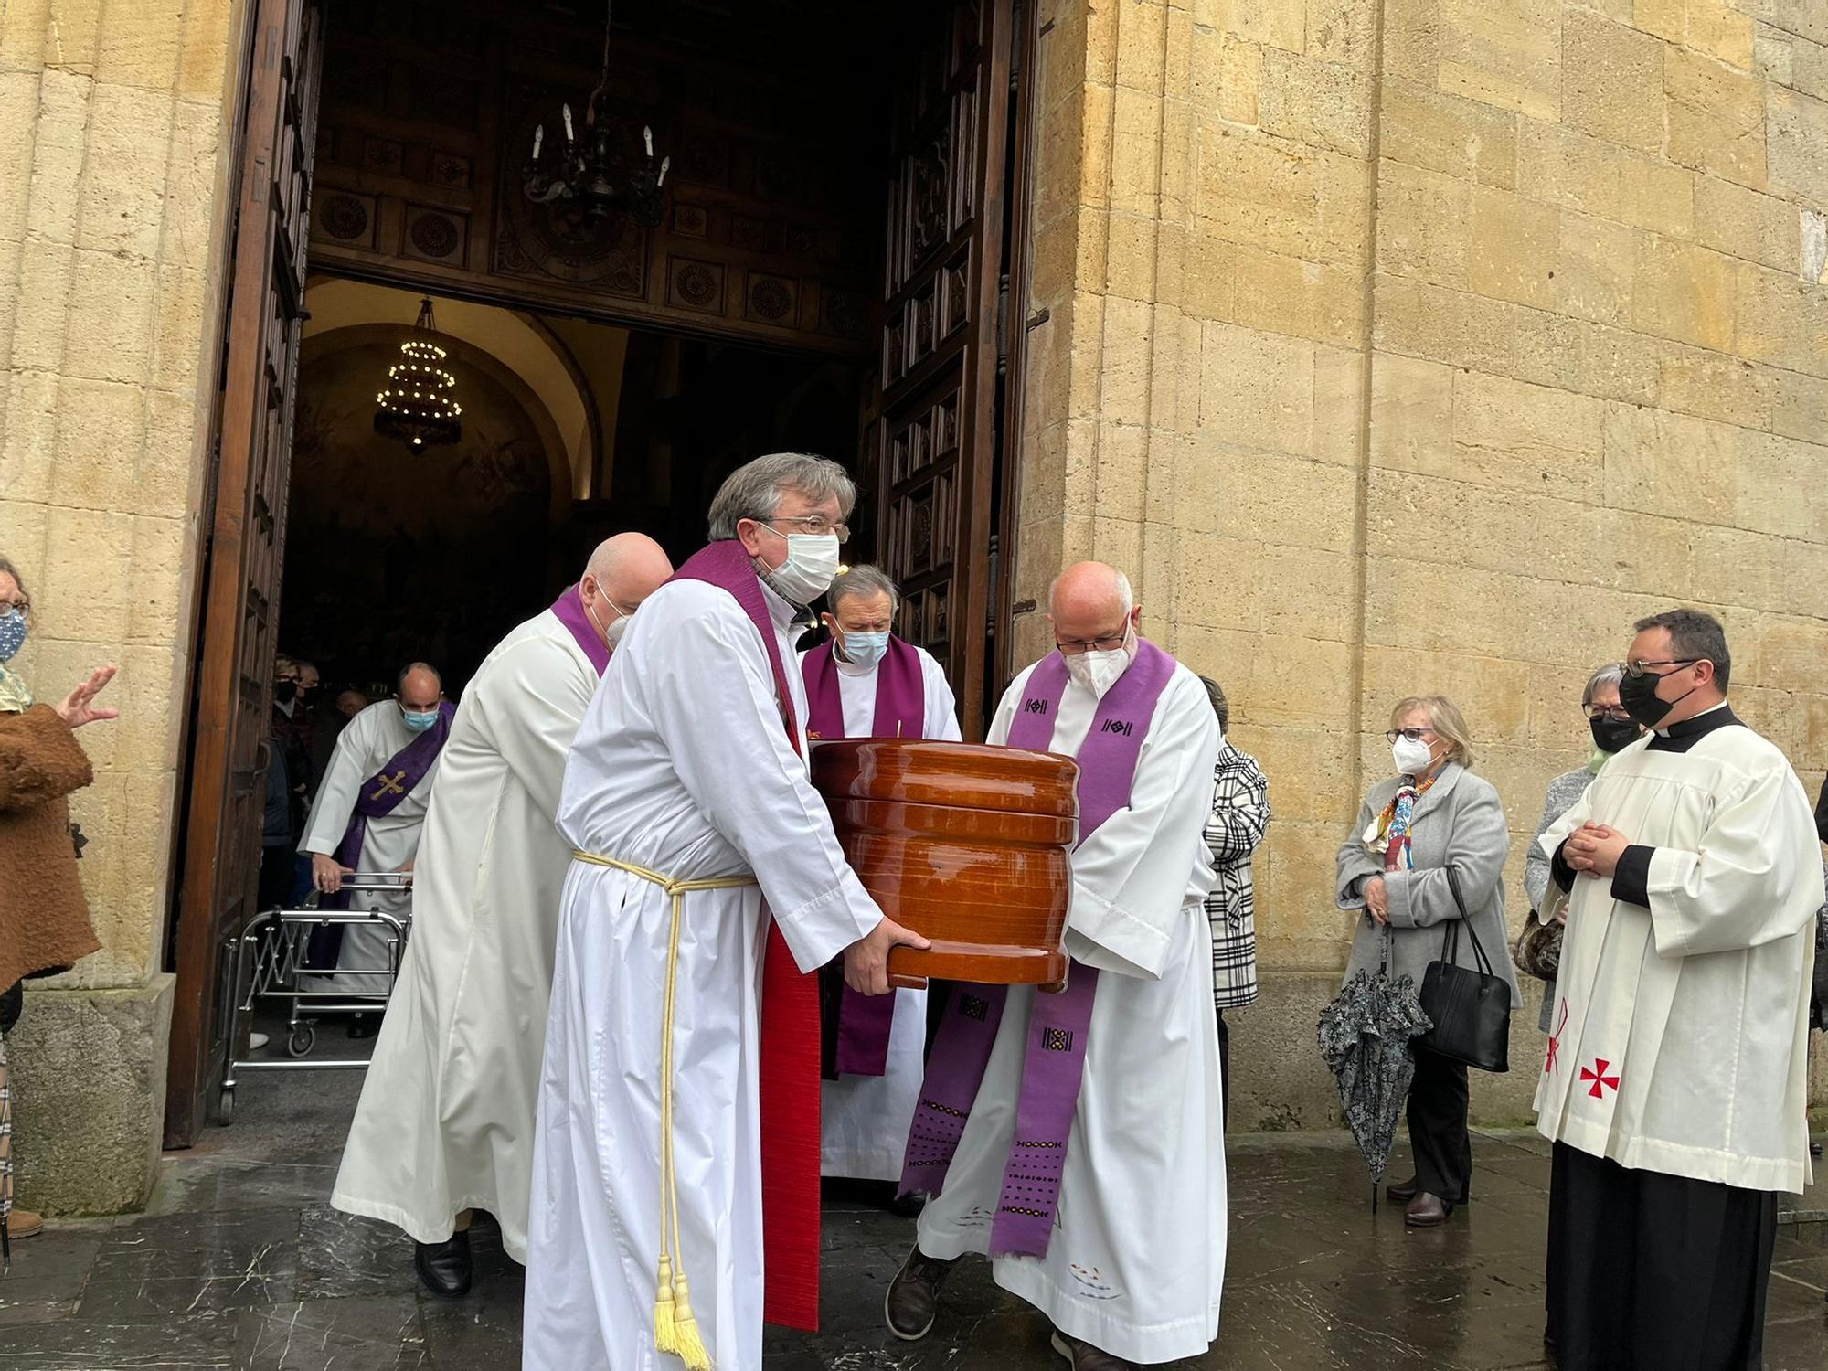
{"type": "Polygon", "coordinates": [[[1799,874],[1810,888],[1821,848],[1808,799],[1788,766],[1766,768],[1720,799],[1695,852],[1651,850],[1645,890],[1660,956],[1695,956],[1791,938],[1813,901],[1790,898],[1799,874]]]}

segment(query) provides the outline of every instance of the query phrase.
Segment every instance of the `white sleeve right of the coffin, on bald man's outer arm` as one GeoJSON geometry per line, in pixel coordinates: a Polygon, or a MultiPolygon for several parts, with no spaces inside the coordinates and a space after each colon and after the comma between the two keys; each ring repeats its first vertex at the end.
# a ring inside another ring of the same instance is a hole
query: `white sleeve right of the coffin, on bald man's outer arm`
{"type": "Polygon", "coordinates": [[[1199,678],[1175,673],[1137,757],[1130,806],[1073,852],[1066,951],[1121,976],[1159,980],[1183,918],[1188,876],[1205,859],[1219,720],[1199,678]]]}

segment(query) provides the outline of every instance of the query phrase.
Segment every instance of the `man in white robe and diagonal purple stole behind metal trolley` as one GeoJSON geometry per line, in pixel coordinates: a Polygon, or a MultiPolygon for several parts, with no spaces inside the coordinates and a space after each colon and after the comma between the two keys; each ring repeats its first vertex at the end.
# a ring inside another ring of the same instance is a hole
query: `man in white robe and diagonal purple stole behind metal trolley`
{"type": "MultiPolygon", "coordinates": [[[[444,682],[437,669],[424,662],[413,662],[400,673],[391,700],[371,704],[336,735],[331,764],[324,771],[316,799],[311,801],[305,835],[298,845],[298,850],[311,857],[311,885],[320,894],[338,894],[342,877],[351,870],[386,874],[413,868],[413,857],[419,856],[419,834],[426,823],[426,806],[431,802],[431,788],[442,753],[431,760],[424,775],[408,788],[406,797],[391,812],[367,819],[362,852],[355,866],[344,866],[333,854],[356,815],[362,784],[399,757],[420,733],[437,728],[441,709],[448,709],[448,706],[444,704],[444,682]]],[[[382,914],[404,919],[411,909],[411,890],[364,890],[356,898],[356,907],[378,909],[382,914]]],[[[378,923],[344,925],[336,971],[345,974],[327,976],[311,989],[338,991],[340,994],[382,994],[388,989],[391,936],[391,930],[378,923]]],[[[375,1015],[356,1015],[349,1020],[349,1036],[375,1036],[375,1015]]]]}

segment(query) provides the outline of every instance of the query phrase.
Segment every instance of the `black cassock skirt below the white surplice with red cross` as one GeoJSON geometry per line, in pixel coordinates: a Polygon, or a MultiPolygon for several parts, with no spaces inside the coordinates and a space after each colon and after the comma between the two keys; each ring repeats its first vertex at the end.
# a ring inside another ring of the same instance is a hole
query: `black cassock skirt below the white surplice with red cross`
{"type": "Polygon", "coordinates": [[[1556,1142],[1548,1338],[1561,1371],[1759,1371],[1777,1196],[1556,1142]]]}

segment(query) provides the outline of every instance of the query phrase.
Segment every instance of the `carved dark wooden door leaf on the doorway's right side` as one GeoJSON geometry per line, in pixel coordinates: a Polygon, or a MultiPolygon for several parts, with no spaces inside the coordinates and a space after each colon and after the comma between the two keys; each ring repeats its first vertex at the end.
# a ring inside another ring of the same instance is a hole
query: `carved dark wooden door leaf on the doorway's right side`
{"type": "Polygon", "coordinates": [[[866,479],[899,632],[940,658],[965,735],[982,737],[1013,4],[901,9],[866,479]]]}

